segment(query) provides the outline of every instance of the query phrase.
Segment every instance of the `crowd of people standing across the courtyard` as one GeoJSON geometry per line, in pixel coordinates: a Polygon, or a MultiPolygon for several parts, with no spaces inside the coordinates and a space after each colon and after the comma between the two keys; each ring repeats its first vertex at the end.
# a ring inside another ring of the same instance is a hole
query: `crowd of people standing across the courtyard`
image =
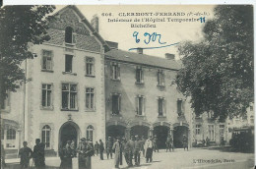
{"type": "MultiPolygon", "coordinates": [[[[188,143],[186,136],[183,136],[183,147],[188,149],[188,143]]],[[[167,136],[165,141],[166,151],[173,151],[173,140],[170,135],[167,136]]],[[[30,159],[32,158],[32,164],[34,164],[36,169],[45,168],[45,157],[44,157],[44,147],[45,144],[40,142],[39,139],[35,140],[35,145],[33,150],[28,147],[28,142],[23,142],[24,147],[19,151],[21,157],[21,168],[29,168],[30,159]]],[[[91,169],[93,155],[100,156],[100,160],[103,160],[103,152],[106,152],[107,159],[113,158],[114,153],[114,165],[115,168],[119,168],[119,165],[123,164],[122,157],[124,156],[128,167],[133,165],[140,165],[141,155],[146,158],[146,163],[153,161],[153,151],[159,151],[157,136],[154,138],[150,136],[147,140],[144,137],[132,136],[130,140],[125,138],[111,138],[108,137],[107,141],[104,143],[99,140],[94,144],[93,141],[82,138],[78,145],[76,141],[66,141],[65,144],[59,146],[59,157],[61,160],[61,169],[72,169],[72,158],[78,155],[78,167],[79,169],[91,169]],[[134,159],[134,164],[133,164],[134,159]]],[[[2,153],[1,153],[2,156],[2,153]]],[[[4,162],[4,161],[2,161],[4,162]]]]}

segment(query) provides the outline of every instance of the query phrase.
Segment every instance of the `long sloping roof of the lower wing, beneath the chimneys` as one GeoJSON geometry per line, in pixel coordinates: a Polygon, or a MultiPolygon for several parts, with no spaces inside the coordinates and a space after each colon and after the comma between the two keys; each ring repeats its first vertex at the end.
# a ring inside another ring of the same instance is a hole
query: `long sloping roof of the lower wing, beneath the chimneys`
{"type": "Polygon", "coordinates": [[[138,54],[135,52],[128,52],[120,49],[112,49],[106,52],[105,57],[107,59],[159,67],[170,70],[179,70],[181,68],[181,65],[175,60],[168,60],[166,58],[160,58],[146,54],[138,54]]]}

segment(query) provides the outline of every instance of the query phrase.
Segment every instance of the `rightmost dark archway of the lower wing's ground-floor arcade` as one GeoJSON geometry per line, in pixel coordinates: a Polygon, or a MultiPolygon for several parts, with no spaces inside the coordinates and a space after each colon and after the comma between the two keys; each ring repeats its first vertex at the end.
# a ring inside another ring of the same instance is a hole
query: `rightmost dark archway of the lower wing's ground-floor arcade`
{"type": "Polygon", "coordinates": [[[174,147],[183,147],[182,139],[183,135],[188,138],[188,128],[186,126],[176,126],[173,130],[173,144],[174,147]]]}

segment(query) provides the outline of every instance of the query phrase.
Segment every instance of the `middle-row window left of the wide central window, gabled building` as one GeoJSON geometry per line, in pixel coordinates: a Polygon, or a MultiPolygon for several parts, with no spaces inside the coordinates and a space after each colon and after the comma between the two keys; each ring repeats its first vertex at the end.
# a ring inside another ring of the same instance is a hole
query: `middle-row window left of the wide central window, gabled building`
{"type": "Polygon", "coordinates": [[[51,106],[51,84],[42,84],[41,86],[41,106],[42,107],[50,107],[51,106]]]}

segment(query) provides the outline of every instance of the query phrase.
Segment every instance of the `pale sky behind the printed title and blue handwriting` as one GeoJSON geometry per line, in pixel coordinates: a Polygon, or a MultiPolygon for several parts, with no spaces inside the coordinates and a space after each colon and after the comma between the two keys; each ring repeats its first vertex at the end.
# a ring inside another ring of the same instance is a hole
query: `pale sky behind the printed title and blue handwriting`
{"type": "MultiPolygon", "coordinates": [[[[56,11],[62,9],[65,6],[56,6],[56,11]]],[[[205,20],[210,20],[214,17],[213,5],[78,5],[78,9],[83,13],[83,15],[91,22],[94,15],[99,19],[99,34],[104,40],[118,42],[118,48],[128,51],[130,48],[137,47],[160,47],[165,45],[170,45],[173,43],[180,43],[185,40],[198,41],[203,37],[202,28],[205,23],[197,22],[167,22],[167,18],[171,19],[189,19],[200,17],[205,17],[205,20]],[[109,15],[111,16],[105,16],[109,15]],[[174,14],[185,14],[185,16],[148,16],[148,17],[124,17],[123,13],[171,13],[174,14]],[[194,14],[205,13],[204,16],[196,16],[194,14]],[[193,14],[194,16],[188,16],[193,14]],[[110,20],[134,20],[137,19],[157,19],[164,22],[109,22],[110,20]],[[156,25],[157,28],[131,28],[131,24],[151,24],[156,25]],[[138,32],[137,38],[140,42],[136,42],[134,32],[138,32]],[[151,42],[149,41],[149,34],[144,36],[144,33],[158,34],[156,40],[153,40],[151,36],[151,42]],[[159,39],[160,38],[160,39],[159,39]]],[[[133,52],[136,52],[133,50],[133,52]]],[[[177,45],[171,45],[169,47],[155,48],[155,49],[145,49],[145,54],[165,57],[165,53],[175,54],[175,59],[179,59],[181,56],[178,55],[177,45]]]]}

